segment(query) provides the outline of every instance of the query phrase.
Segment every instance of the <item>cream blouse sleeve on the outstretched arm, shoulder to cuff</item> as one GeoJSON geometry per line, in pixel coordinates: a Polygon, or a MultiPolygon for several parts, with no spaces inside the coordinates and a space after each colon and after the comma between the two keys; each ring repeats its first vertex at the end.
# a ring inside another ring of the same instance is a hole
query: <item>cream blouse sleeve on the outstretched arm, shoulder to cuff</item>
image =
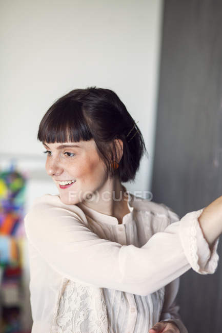
{"type": "Polygon", "coordinates": [[[44,202],[36,202],[25,216],[25,230],[30,244],[68,279],[145,296],[191,267],[199,274],[214,273],[217,243],[212,258],[205,238],[190,235],[200,212],[186,214],[140,248],[100,239],[78,214],[44,202]]]}

